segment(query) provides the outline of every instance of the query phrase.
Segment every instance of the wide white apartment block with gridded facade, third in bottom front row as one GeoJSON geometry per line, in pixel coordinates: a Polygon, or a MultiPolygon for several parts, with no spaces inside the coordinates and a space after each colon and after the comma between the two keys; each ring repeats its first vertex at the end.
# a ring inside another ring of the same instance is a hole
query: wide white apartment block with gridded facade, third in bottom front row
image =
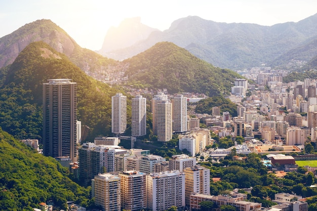
{"type": "Polygon", "coordinates": [[[171,206],[185,206],[184,173],[164,172],[146,176],[147,208],[163,211],[171,206]]]}

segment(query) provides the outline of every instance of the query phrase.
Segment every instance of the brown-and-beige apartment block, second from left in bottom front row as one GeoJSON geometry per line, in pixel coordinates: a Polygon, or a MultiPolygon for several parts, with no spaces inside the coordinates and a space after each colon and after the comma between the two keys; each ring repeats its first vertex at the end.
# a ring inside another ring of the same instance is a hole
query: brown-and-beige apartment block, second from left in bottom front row
{"type": "Polygon", "coordinates": [[[146,209],[146,174],[126,171],[121,178],[121,208],[126,210],[146,209]]]}

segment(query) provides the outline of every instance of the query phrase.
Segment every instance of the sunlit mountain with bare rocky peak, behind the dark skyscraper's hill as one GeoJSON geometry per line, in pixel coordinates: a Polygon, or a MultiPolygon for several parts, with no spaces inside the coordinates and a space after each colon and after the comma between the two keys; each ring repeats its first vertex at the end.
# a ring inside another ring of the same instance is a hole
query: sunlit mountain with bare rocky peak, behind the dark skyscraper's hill
{"type": "Polygon", "coordinates": [[[82,70],[91,72],[115,65],[116,61],[83,49],[51,20],[37,20],[0,38],[0,68],[13,63],[19,53],[33,41],[45,41],[57,52],[65,54],[82,70]]]}

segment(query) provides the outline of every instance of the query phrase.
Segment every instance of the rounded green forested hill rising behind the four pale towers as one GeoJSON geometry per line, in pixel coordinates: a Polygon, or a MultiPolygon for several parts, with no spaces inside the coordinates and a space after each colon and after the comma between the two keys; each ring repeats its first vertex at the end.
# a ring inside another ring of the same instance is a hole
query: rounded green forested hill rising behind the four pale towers
{"type": "Polygon", "coordinates": [[[133,86],[167,88],[169,93],[195,92],[208,96],[230,92],[232,82],[241,75],[214,67],[173,43],[162,42],[123,61],[133,86]]]}

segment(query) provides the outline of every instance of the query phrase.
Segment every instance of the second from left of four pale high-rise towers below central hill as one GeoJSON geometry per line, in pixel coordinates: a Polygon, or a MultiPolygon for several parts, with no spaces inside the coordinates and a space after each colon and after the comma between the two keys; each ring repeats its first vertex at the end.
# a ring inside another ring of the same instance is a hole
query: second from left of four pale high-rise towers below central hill
{"type": "Polygon", "coordinates": [[[139,137],[146,135],[146,98],[137,95],[132,98],[131,110],[131,131],[132,136],[139,137]]]}

